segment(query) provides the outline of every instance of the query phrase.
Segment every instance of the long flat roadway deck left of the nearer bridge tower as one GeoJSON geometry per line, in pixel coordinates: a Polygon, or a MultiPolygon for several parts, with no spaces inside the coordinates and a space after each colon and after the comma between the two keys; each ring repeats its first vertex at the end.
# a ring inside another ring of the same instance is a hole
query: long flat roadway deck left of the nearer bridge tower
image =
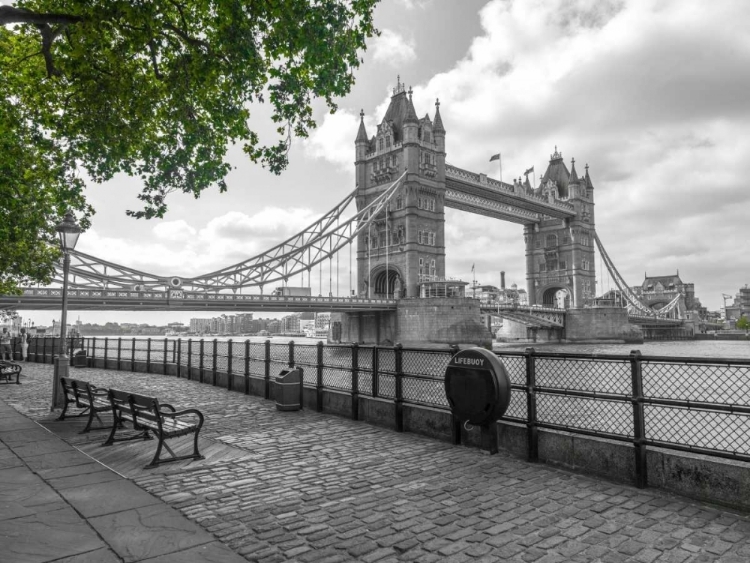
{"type": "MultiPolygon", "coordinates": [[[[27,288],[22,295],[0,295],[0,309],[59,309],[61,288],[27,288]]],[[[68,309],[106,311],[393,311],[394,299],[360,297],[277,297],[274,295],[206,293],[183,290],[128,291],[69,289],[68,309]]]]}

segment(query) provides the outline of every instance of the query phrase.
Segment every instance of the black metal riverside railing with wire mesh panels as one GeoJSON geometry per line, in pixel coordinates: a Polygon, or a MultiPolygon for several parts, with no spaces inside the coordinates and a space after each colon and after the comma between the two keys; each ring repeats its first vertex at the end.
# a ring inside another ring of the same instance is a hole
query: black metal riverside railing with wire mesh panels
{"type": "MultiPolygon", "coordinates": [[[[29,341],[35,361],[51,362],[59,339],[29,341]]],[[[70,339],[69,354],[83,350],[91,365],[167,373],[195,371],[203,383],[229,389],[244,378],[270,380],[290,366],[303,368],[303,384],[314,388],[318,409],[324,390],[349,394],[353,418],[357,397],[395,404],[394,425],[403,429],[403,405],[449,411],[443,375],[457,348],[412,349],[294,342],[171,339],[70,339]]],[[[79,352],[82,354],[82,352],[79,352]]],[[[750,461],[750,360],[629,355],[500,352],[511,381],[511,401],[502,420],[525,425],[528,455],[538,457],[538,430],[562,430],[628,442],[634,446],[638,484],[645,483],[646,448],[658,446],[750,461]]],[[[460,421],[454,421],[454,425],[460,421]]]]}

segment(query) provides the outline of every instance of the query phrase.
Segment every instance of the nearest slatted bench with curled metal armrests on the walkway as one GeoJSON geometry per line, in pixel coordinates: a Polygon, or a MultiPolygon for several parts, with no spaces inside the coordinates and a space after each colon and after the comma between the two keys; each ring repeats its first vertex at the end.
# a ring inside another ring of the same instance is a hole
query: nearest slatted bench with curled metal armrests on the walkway
{"type": "Polygon", "coordinates": [[[153,434],[159,439],[159,443],[156,446],[154,459],[146,466],[147,469],[171,461],[204,459],[198,451],[198,434],[203,427],[203,414],[199,410],[175,411],[172,405],[159,404],[156,397],[147,397],[136,393],[118,391],[117,389],[109,390],[109,401],[114,415],[114,424],[109,438],[102,445],[111,446],[114,442],[126,440],[151,440],[153,434]],[[189,420],[185,420],[185,417],[189,417],[189,420]],[[122,438],[115,437],[117,430],[124,428],[125,423],[129,423],[137,434],[122,438]],[[192,454],[176,456],[165,443],[165,440],[170,438],[189,434],[194,434],[192,454]],[[166,449],[172,457],[161,459],[162,448],[166,449]]]}

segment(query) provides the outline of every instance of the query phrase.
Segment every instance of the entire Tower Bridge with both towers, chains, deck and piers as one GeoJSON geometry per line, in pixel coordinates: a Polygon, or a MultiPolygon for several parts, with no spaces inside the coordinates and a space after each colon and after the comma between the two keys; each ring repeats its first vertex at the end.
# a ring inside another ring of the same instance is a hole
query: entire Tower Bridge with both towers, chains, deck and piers
{"type": "MultiPolygon", "coordinates": [[[[510,184],[448,164],[440,102],[433,117],[418,117],[412,91],[400,80],[372,135],[364,112],[360,116],[354,140],[356,187],[313,224],[257,256],[194,277],[155,275],[73,252],[69,308],[325,310],[338,314],[344,339],[359,342],[419,336],[433,342],[486,342],[488,332],[479,322],[484,312],[564,331],[569,339],[594,332],[615,338],[628,332],[626,310],[612,307],[605,314],[591,307],[596,245],[636,322],[641,317],[658,323],[674,310],[668,303],[655,312],[617,273],[596,235],[588,165],[579,175],[575,160],[568,168],[555,147],[540,184],[532,186],[528,176],[510,184]],[[356,213],[347,219],[344,212],[351,203],[356,213]],[[480,307],[466,298],[461,283],[446,285],[445,208],[522,226],[529,307],[480,307]],[[345,296],[339,290],[340,261],[349,262],[350,279],[356,273],[345,296]],[[324,293],[324,267],[327,297],[264,295],[264,288],[286,286],[297,277],[307,287],[317,277],[324,293]]],[[[61,284],[59,272],[55,282],[61,284]]],[[[60,299],[59,288],[27,288],[20,296],[0,296],[0,307],[57,308],[60,299]]]]}

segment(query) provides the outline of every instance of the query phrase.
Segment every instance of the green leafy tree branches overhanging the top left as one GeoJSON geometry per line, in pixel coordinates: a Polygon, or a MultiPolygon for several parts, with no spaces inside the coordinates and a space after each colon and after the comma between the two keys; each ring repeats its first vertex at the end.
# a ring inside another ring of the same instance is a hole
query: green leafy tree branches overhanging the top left
{"type": "Polygon", "coordinates": [[[88,224],[83,172],[94,182],[139,178],[143,207],[128,214],[145,218],[164,215],[170,192],[226,190],[229,144],[280,173],[291,138],[315,127],[313,101],[335,111],[334,98],[350,91],[377,33],[377,1],[0,6],[0,291],[48,280],[65,208],[88,224]],[[257,104],[270,106],[271,142],[254,130],[257,104]]]}

